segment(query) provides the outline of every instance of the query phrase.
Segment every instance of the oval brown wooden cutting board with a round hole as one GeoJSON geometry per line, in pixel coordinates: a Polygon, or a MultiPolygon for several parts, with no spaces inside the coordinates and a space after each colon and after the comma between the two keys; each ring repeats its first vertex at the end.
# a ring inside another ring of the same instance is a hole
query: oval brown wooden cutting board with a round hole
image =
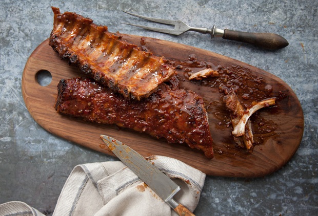
{"type": "MultiPolygon", "coordinates": [[[[220,120],[220,116],[228,116],[228,113],[222,101],[223,93],[218,90],[218,86],[213,87],[211,85],[213,81],[210,83],[205,80],[188,81],[185,78],[181,78],[182,87],[202,95],[207,105],[215,152],[211,160],[205,158],[202,152],[184,145],[168,144],[165,140],[156,140],[149,135],[114,125],[90,123],[60,115],[54,110],[57,83],[60,79],[84,76],[84,74],[75,67],[69,66],[67,61],[61,60],[48,45],[48,40],[42,42],[31,54],[22,77],[23,97],[35,121],[54,135],[98,152],[113,155],[100,139],[100,134],[104,134],[129,145],[144,157],[164,155],[176,158],[213,176],[262,177],[280,169],[294,155],[303,136],[303,111],[294,92],[280,78],[246,63],[206,50],[148,37],[141,39],[140,36],[123,35],[123,38],[139,46],[144,45],[154,54],[166,58],[184,61],[189,55],[194,54],[197,60],[214,66],[235,69],[234,72],[237,73],[248,71],[255,79],[261,77],[262,88],[265,83],[267,87],[271,87],[272,96],[284,96],[277,101],[273,109],[266,108],[257,112],[261,119],[274,125],[274,131],[265,133],[264,142],[256,145],[252,153],[235,147],[231,138],[231,126],[225,126],[224,121],[220,120]],[[42,86],[37,81],[38,74],[43,70],[49,71],[52,76],[47,86],[42,86]]],[[[180,77],[185,76],[184,71],[179,70],[178,73],[180,77]]],[[[244,80],[241,81],[245,83],[244,80]]]]}

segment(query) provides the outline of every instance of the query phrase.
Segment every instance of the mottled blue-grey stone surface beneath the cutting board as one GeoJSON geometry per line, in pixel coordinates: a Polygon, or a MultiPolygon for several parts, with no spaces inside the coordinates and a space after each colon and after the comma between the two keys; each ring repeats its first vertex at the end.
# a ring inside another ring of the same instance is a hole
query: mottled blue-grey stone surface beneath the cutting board
{"type": "Polygon", "coordinates": [[[171,40],[222,54],[266,70],[290,85],[302,104],[305,131],[300,148],[279,171],[264,178],[209,176],[197,215],[314,215],[318,212],[318,1],[9,1],[0,0],[0,204],[24,201],[50,215],[72,168],[116,160],[46,132],[30,116],[21,78],[32,51],[52,29],[51,6],[107,25],[109,31],[171,40]],[[182,19],[196,27],[278,33],[289,41],[279,51],[188,32],[180,36],[120,24],[143,21],[121,10],[182,19]]]}

